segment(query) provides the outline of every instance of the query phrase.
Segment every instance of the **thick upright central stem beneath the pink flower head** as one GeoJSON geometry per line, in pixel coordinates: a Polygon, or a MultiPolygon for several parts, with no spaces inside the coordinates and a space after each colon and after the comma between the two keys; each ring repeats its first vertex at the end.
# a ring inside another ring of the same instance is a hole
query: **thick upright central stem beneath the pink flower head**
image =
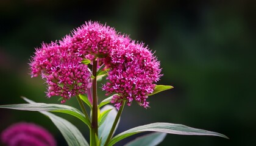
{"type": "Polygon", "coordinates": [[[98,97],[97,97],[97,60],[93,61],[93,111],[91,117],[91,145],[96,145],[98,136],[98,97]]]}

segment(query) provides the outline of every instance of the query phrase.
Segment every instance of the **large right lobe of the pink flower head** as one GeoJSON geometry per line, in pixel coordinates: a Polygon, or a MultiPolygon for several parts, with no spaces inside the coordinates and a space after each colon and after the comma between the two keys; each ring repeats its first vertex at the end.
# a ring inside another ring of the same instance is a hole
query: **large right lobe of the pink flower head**
{"type": "MultiPolygon", "coordinates": [[[[127,43],[127,42],[126,42],[127,43]]],[[[117,93],[112,99],[116,108],[127,100],[130,106],[133,100],[144,108],[149,107],[148,94],[154,91],[155,84],[162,76],[160,63],[143,44],[130,42],[128,45],[112,49],[110,71],[102,89],[108,94],[117,93]]]]}

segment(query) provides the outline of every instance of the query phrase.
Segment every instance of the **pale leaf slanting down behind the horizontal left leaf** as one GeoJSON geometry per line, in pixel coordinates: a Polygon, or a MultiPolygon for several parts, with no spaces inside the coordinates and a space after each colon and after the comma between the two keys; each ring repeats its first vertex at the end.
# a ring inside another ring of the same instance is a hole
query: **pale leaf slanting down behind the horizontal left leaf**
{"type": "MultiPolygon", "coordinates": [[[[25,97],[23,97],[23,99],[26,102],[29,102],[30,104],[35,103],[34,101],[26,99],[25,97]]],[[[80,133],[80,131],[72,123],[68,122],[68,120],[65,120],[62,117],[56,116],[47,111],[39,111],[39,112],[49,117],[49,119],[52,120],[54,125],[60,130],[60,133],[62,133],[63,137],[65,138],[69,146],[77,146],[77,145],[89,146],[88,142],[85,140],[82,133],[80,133]]]]}

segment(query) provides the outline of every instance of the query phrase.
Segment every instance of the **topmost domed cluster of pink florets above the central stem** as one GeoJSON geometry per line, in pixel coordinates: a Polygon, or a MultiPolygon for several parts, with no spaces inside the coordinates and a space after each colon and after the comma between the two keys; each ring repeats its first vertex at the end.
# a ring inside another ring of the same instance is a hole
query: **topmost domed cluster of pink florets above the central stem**
{"type": "Polygon", "coordinates": [[[89,21],[74,30],[72,49],[80,56],[91,54],[104,58],[115,45],[115,37],[116,31],[112,27],[89,21]]]}

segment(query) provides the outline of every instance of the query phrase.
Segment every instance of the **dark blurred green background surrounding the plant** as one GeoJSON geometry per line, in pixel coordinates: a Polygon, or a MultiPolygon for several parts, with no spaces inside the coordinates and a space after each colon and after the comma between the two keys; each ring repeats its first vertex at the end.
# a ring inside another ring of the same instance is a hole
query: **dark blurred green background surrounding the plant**
{"type": "MultiPolygon", "coordinates": [[[[118,133],[146,123],[171,122],[217,131],[230,140],[169,134],[160,145],[253,145],[255,10],[256,2],[249,0],[1,0],[0,104],[25,103],[20,96],[59,103],[57,97],[46,98],[41,78],[30,78],[30,56],[42,42],[59,40],[85,21],[100,21],[156,50],[164,74],[158,84],[174,86],[150,97],[149,109],[135,103],[125,107],[118,133]]],[[[74,99],[66,104],[77,106],[74,99]]],[[[15,122],[35,122],[51,131],[59,145],[66,145],[51,121],[37,112],[0,109],[0,113],[0,131],[15,122]]],[[[59,115],[88,139],[82,122],[59,115]]]]}

